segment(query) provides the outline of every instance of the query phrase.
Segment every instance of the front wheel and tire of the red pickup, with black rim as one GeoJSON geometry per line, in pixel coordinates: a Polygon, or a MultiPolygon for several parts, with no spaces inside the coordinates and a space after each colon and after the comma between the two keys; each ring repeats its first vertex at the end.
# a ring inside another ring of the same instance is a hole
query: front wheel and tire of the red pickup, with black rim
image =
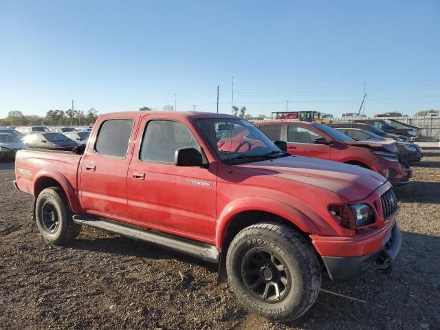
{"type": "Polygon", "coordinates": [[[299,318],[320,290],[320,263],[310,243],[278,223],[241,230],[230,243],[226,271],[241,303],[273,321],[299,318]]]}

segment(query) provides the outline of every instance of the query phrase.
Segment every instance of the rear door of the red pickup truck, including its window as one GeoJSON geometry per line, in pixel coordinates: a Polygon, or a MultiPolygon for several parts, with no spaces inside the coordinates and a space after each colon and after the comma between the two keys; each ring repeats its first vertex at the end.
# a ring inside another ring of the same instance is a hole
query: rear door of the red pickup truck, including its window
{"type": "Polygon", "coordinates": [[[80,165],[80,200],[91,214],[128,219],[126,181],[140,115],[102,117],[80,165]]]}

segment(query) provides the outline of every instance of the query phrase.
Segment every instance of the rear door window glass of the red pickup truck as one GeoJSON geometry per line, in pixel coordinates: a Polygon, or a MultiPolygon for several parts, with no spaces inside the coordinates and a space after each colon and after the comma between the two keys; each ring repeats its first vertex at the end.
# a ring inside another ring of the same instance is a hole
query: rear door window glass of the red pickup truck
{"type": "Polygon", "coordinates": [[[102,122],[96,137],[95,151],[104,156],[126,157],[133,125],[132,119],[110,119],[102,122]]]}

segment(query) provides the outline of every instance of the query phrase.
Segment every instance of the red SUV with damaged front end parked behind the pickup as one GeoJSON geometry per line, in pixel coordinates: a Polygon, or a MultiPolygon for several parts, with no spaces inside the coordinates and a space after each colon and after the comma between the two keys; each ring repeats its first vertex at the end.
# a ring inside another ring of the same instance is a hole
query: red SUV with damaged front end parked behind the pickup
{"type": "Polygon", "coordinates": [[[397,154],[395,142],[355,141],[325,124],[316,122],[256,122],[272,140],[287,142],[287,151],[369,168],[393,185],[405,184],[412,170],[397,154]]]}

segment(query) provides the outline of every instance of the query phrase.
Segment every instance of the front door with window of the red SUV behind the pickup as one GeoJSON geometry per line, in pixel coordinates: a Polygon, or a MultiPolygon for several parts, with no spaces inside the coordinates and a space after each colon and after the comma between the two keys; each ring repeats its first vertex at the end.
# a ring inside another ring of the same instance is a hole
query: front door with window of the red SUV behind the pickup
{"type": "Polygon", "coordinates": [[[329,146],[314,143],[317,137],[323,136],[309,126],[288,124],[287,151],[292,155],[331,159],[329,146]]]}

